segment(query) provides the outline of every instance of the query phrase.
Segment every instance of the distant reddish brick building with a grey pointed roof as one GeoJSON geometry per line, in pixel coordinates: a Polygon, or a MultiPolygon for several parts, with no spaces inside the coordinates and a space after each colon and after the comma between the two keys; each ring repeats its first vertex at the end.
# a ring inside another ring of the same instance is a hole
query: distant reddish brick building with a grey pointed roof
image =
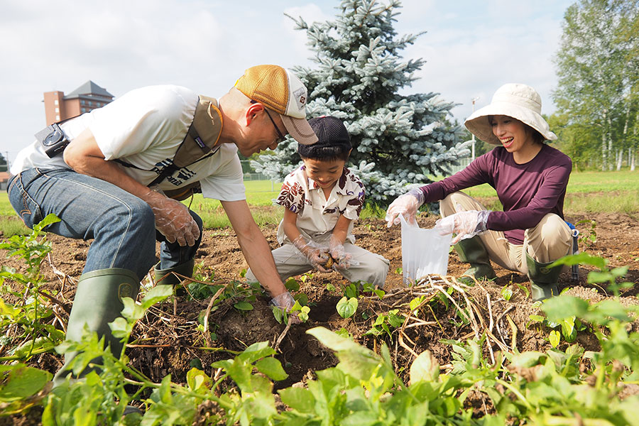
{"type": "Polygon", "coordinates": [[[45,116],[47,125],[70,119],[92,109],[104,107],[113,100],[113,95],[89,80],[70,94],[45,92],[45,116]]]}

